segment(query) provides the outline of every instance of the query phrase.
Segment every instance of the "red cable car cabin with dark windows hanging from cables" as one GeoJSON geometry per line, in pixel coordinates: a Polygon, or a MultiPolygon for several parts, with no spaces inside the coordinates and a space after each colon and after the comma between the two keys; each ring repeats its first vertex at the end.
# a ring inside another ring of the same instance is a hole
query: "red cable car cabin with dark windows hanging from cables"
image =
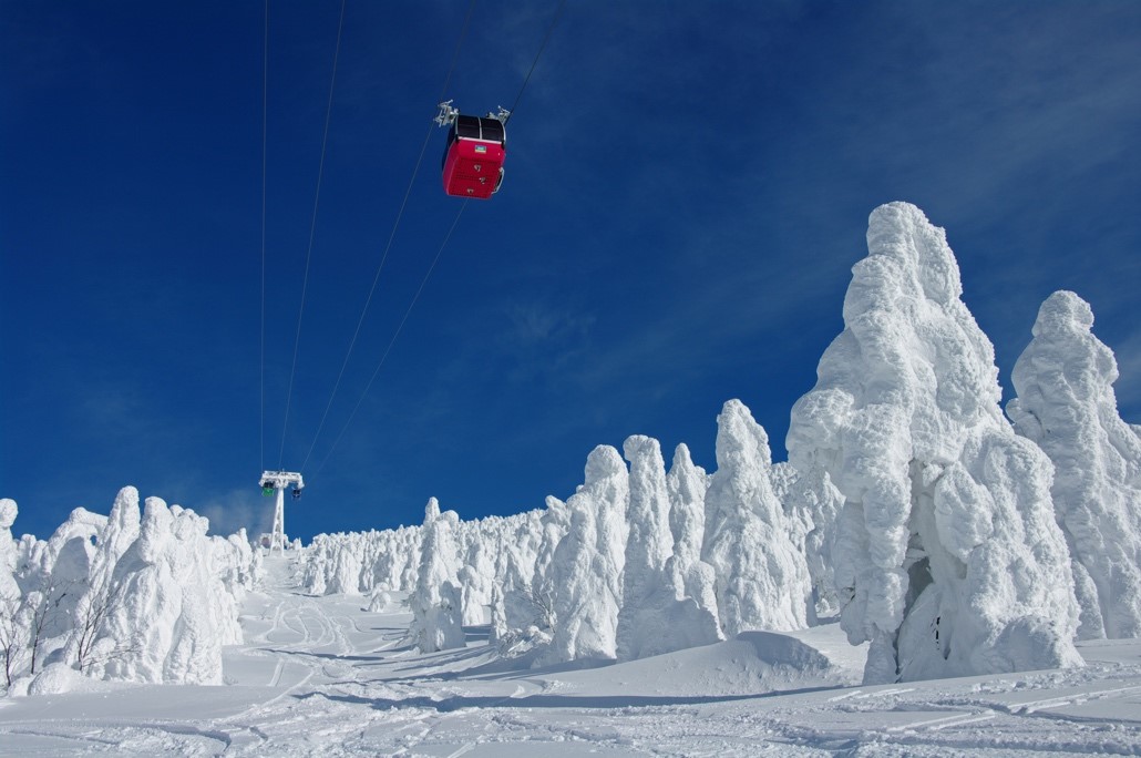
{"type": "Polygon", "coordinates": [[[507,158],[507,131],[492,118],[456,115],[444,152],[444,192],[487,200],[499,192],[507,158]]]}

